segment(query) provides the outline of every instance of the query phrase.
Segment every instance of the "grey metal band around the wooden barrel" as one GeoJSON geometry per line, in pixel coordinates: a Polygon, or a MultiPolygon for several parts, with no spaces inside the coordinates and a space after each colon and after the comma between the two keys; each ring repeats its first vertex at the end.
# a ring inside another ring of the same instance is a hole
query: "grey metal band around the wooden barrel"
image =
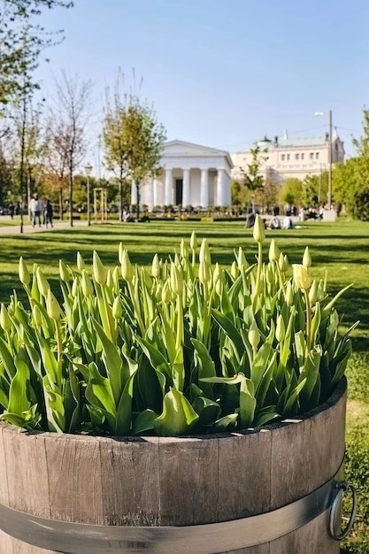
{"type": "Polygon", "coordinates": [[[63,554],[238,550],[278,539],[325,512],[334,500],[342,468],[343,462],[332,479],[309,495],[249,518],[186,527],[119,527],[45,519],[0,504],[0,528],[19,541],[63,554]]]}

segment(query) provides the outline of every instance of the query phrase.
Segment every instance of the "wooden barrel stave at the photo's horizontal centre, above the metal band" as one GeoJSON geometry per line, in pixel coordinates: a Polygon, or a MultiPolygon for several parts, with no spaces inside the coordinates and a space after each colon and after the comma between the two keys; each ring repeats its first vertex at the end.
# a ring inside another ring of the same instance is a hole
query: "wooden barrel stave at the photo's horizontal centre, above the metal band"
{"type": "Polygon", "coordinates": [[[218,520],[218,438],[159,438],[161,525],[218,520]]]}

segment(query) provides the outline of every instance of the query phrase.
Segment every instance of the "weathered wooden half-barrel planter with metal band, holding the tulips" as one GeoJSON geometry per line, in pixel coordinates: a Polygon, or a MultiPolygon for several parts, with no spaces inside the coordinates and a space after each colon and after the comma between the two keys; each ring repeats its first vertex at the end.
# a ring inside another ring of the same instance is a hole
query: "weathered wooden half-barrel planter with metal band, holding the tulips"
{"type": "Polygon", "coordinates": [[[0,426],[1,554],[338,554],[346,380],[245,433],[112,439],[0,426]],[[12,535],[12,536],[11,536],[12,535]]]}

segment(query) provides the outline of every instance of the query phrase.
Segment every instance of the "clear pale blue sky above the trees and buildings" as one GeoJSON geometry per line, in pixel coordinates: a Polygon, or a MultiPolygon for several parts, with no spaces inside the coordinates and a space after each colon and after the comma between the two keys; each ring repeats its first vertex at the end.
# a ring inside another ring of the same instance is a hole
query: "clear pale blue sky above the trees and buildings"
{"type": "Polygon", "coordinates": [[[118,67],[135,67],[168,139],[242,150],[285,128],[323,134],[332,109],[351,152],[368,103],[368,0],[74,3],[42,16],[48,29],[65,29],[65,42],[39,74],[46,91],[61,67],[94,81],[96,118],[118,67]]]}

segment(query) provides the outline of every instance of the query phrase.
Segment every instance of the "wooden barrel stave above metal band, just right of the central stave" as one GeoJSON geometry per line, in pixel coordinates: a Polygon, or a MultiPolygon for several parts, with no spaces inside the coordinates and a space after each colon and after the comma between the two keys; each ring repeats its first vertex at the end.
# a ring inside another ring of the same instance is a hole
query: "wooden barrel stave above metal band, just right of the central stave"
{"type": "Polygon", "coordinates": [[[272,433],[219,438],[219,521],[268,512],[272,433]]]}

